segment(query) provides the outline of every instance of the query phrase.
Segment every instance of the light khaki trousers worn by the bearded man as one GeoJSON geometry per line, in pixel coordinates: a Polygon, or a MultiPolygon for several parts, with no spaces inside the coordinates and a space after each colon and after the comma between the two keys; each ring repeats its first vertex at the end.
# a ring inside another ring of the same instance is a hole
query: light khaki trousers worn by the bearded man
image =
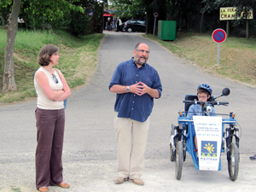
{"type": "Polygon", "coordinates": [[[114,116],[115,136],[118,143],[119,177],[141,177],[147,144],[149,117],[145,122],[114,116]]]}

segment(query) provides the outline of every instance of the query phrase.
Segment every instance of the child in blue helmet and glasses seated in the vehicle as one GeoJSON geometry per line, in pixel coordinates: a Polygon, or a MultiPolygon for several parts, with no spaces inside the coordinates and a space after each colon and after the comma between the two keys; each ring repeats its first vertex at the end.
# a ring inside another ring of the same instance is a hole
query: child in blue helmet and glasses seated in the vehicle
{"type": "MultiPolygon", "coordinates": [[[[197,98],[199,102],[207,102],[207,100],[212,95],[212,88],[209,84],[200,84],[197,87],[197,98]]],[[[193,104],[189,107],[189,111],[187,114],[187,118],[192,119],[194,115],[202,115],[203,111],[203,105],[202,104],[193,104]]],[[[210,106],[212,108],[212,106],[210,106]]],[[[210,112],[211,116],[216,116],[215,109],[212,108],[212,112],[210,112]]],[[[193,137],[194,137],[194,143],[195,143],[195,152],[197,152],[197,138],[195,135],[195,127],[193,126],[192,129],[193,137]]]]}

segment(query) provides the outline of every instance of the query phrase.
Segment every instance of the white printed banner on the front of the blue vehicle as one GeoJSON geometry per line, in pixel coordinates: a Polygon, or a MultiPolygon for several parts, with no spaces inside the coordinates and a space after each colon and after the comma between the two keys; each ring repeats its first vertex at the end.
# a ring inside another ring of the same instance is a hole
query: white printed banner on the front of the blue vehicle
{"type": "Polygon", "coordinates": [[[222,117],[193,116],[199,170],[218,171],[222,145],[222,117]]]}

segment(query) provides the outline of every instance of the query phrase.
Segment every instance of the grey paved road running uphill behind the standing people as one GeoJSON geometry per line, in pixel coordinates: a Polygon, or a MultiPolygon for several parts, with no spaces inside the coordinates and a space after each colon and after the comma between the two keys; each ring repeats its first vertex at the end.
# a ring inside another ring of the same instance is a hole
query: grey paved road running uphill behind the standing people
{"type": "MultiPolygon", "coordinates": [[[[139,33],[106,34],[99,49],[95,76],[90,84],[73,91],[67,102],[63,164],[64,180],[71,188],[49,187],[49,191],[253,191],[256,161],[248,157],[256,153],[255,88],[204,73],[139,33]],[[117,153],[113,131],[115,95],[108,90],[115,67],[131,59],[138,42],[149,45],[148,64],[159,72],[163,84],[162,97],[154,102],[148,132],[143,187],[129,182],[113,183],[117,153]],[[177,111],[183,110],[183,97],[195,94],[196,86],[201,83],[211,84],[214,96],[220,95],[224,87],[231,90],[230,96],[219,99],[230,102],[229,108],[217,107],[217,110],[235,112],[242,127],[241,163],[236,182],[228,177],[225,154],[220,172],[196,171],[188,155],[181,180],[175,179],[168,147],[171,124],[177,123],[177,111]]],[[[37,191],[35,106],[36,101],[32,101],[0,108],[0,191],[37,191]]]]}

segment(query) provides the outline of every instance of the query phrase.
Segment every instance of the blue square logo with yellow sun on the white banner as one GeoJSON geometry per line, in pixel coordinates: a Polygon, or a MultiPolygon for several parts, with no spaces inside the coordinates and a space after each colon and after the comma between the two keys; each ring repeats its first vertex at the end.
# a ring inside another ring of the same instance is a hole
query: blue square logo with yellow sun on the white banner
{"type": "Polygon", "coordinates": [[[217,142],[201,141],[201,157],[217,157],[217,142]]]}

